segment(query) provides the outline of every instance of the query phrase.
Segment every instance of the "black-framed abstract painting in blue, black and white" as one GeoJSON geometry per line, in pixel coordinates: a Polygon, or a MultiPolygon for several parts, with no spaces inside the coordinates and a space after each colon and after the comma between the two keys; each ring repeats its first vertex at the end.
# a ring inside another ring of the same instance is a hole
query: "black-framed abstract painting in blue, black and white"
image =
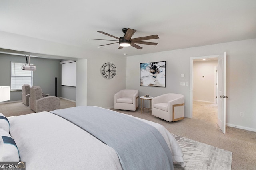
{"type": "Polygon", "coordinates": [[[166,61],[140,63],[140,86],[166,87],[166,61]]]}

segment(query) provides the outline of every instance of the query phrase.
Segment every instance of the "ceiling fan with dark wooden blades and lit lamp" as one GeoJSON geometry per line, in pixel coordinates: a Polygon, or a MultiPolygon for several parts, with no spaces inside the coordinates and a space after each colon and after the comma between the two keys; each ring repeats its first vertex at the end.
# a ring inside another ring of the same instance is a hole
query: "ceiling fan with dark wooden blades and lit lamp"
{"type": "MultiPolygon", "coordinates": [[[[144,40],[149,40],[149,39],[158,39],[159,38],[158,35],[150,35],[150,36],[146,36],[146,37],[131,38],[132,35],[134,35],[134,33],[136,32],[135,29],[123,28],[122,31],[124,33],[124,36],[120,37],[120,38],[110,35],[108,33],[104,33],[102,31],[98,31],[99,33],[108,35],[108,36],[113,37],[118,40],[110,40],[110,39],[94,39],[94,40],[119,41],[119,42],[116,42],[116,43],[119,43],[118,49],[122,49],[122,48],[128,47],[128,46],[135,47],[136,49],[142,49],[142,47],[140,47],[137,44],[146,44],[146,45],[157,45],[158,44],[158,43],[144,41],[144,40]]],[[[115,43],[110,43],[110,44],[115,44],[115,43]]],[[[105,44],[105,45],[110,45],[110,44],[105,44]]],[[[100,45],[100,46],[104,46],[104,45],[100,45]]]]}

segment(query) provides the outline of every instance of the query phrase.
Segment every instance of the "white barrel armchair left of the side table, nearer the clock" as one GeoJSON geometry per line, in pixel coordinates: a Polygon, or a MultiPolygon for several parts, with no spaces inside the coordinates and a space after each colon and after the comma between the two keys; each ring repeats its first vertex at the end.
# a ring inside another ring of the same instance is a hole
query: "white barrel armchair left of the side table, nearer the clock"
{"type": "Polygon", "coordinates": [[[114,95],[114,109],[135,111],[139,107],[139,91],[123,89],[114,95]]]}

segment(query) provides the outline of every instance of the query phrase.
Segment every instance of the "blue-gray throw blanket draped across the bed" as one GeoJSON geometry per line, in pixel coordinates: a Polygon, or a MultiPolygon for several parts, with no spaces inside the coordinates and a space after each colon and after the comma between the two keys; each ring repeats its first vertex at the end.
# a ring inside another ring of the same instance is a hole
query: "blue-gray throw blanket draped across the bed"
{"type": "Polygon", "coordinates": [[[172,153],[153,126],[108,109],[78,106],[52,113],[116,150],[124,170],[172,170],[172,153]]]}

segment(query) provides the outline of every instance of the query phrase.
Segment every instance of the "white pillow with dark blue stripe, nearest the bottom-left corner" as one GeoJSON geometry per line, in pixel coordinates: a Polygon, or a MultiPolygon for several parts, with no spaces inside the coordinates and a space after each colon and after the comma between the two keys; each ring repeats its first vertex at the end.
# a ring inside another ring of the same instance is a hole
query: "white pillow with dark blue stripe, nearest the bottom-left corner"
{"type": "Polygon", "coordinates": [[[19,150],[9,133],[0,129],[0,161],[20,161],[19,150]]]}

